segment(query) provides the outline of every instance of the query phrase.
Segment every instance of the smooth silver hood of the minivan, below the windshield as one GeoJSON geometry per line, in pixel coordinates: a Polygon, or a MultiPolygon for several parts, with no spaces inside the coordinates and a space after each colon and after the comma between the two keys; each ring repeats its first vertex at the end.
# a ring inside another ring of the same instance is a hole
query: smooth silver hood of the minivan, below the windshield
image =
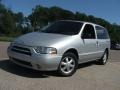
{"type": "Polygon", "coordinates": [[[16,44],[24,44],[27,46],[47,46],[65,40],[65,38],[69,38],[71,36],[61,35],[61,34],[51,34],[51,33],[41,33],[41,32],[32,32],[20,36],[17,38],[14,43],[16,44]]]}

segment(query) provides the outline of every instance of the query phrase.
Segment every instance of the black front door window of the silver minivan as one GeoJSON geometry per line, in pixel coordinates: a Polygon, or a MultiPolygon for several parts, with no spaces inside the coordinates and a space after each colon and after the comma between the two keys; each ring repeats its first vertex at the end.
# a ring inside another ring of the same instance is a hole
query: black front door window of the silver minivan
{"type": "Polygon", "coordinates": [[[86,24],[82,33],[83,39],[95,39],[94,27],[90,24],[86,24]]]}

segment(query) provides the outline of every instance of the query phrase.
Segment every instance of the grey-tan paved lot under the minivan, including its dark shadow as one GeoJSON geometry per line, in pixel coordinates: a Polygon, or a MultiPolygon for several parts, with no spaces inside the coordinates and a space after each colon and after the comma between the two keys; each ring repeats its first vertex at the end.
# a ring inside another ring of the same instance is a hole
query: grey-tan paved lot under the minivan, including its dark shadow
{"type": "Polygon", "coordinates": [[[105,66],[80,64],[73,76],[60,77],[55,71],[40,72],[11,63],[8,45],[0,42],[0,90],[120,90],[120,50],[110,51],[105,66]]]}

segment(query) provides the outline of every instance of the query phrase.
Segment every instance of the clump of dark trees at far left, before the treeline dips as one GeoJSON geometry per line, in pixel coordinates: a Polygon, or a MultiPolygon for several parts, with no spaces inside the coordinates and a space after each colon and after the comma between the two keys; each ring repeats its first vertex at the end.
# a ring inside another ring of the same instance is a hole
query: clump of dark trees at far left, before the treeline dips
{"type": "Polygon", "coordinates": [[[30,28],[22,12],[14,13],[0,2],[0,35],[18,36],[30,28]]]}

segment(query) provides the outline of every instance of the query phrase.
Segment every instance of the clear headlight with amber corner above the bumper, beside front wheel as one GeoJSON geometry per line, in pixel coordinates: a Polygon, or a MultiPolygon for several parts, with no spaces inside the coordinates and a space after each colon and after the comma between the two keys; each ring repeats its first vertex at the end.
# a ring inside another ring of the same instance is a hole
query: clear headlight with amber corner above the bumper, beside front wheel
{"type": "Polygon", "coordinates": [[[56,48],[52,47],[42,47],[42,46],[37,46],[34,47],[34,50],[36,53],[40,54],[57,54],[56,48]]]}

